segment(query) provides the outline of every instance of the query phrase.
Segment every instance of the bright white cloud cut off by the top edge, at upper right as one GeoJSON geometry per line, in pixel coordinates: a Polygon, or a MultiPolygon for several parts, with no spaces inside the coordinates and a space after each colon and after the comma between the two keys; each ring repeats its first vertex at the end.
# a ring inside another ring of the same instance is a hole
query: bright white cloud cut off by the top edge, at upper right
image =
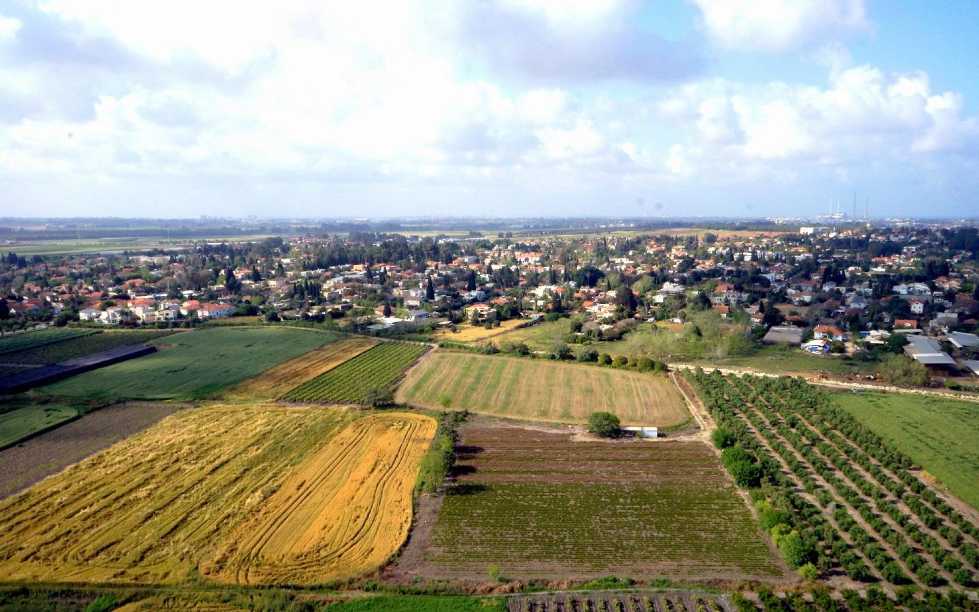
{"type": "Polygon", "coordinates": [[[863,0],[692,0],[723,49],[784,52],[869,29],[863,0]]]}

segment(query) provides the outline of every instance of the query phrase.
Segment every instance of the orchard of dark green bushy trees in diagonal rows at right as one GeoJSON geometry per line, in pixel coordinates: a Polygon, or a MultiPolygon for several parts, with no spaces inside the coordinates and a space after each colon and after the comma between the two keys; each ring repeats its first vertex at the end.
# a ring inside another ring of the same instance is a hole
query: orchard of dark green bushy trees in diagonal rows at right
{"type": "Polygon", "coordinates": [[[769,532],[797,534],[782,549],[796,564],[831,579],[973,585],[979,527],[830,394],[798,378],[686,376],[719,426],[754,453],[771,485],[769,532]]]}

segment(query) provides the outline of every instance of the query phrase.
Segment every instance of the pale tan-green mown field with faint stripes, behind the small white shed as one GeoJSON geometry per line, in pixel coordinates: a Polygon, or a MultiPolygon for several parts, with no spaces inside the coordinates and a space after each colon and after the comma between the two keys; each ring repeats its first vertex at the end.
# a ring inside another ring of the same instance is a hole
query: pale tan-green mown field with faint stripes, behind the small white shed
{"type": "Polygon", "coordinates": [[[673,382],[651,372],[436,351],[408,372],[396,400],[435,408],[443,398],[473,412],[562,423],[583,423],[595,410],[629,425],[690,418],[673,382]]]}

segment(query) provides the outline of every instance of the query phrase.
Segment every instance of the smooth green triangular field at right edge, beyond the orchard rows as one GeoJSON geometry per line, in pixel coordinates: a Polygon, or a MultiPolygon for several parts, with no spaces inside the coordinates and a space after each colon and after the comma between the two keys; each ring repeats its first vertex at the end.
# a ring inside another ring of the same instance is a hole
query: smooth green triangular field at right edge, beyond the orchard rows
{"type": "Polygon", "coordinates": [[[837,393],[833,401],[979,508],[979,403],[901,393],[837,393]]]}

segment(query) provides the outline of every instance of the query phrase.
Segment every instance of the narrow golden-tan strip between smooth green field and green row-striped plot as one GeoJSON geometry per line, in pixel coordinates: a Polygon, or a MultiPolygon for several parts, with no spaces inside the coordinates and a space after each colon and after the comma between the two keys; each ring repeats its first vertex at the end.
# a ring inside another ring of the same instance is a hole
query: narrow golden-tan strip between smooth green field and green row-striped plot
{"type": "Polygon", "coordinates": [[[377,344],[377,341],[369,338],[350,338],[326,345],[242,381],[228,390],[227,398],[275,400],[297,385],[332,370],[377,344]]]}

